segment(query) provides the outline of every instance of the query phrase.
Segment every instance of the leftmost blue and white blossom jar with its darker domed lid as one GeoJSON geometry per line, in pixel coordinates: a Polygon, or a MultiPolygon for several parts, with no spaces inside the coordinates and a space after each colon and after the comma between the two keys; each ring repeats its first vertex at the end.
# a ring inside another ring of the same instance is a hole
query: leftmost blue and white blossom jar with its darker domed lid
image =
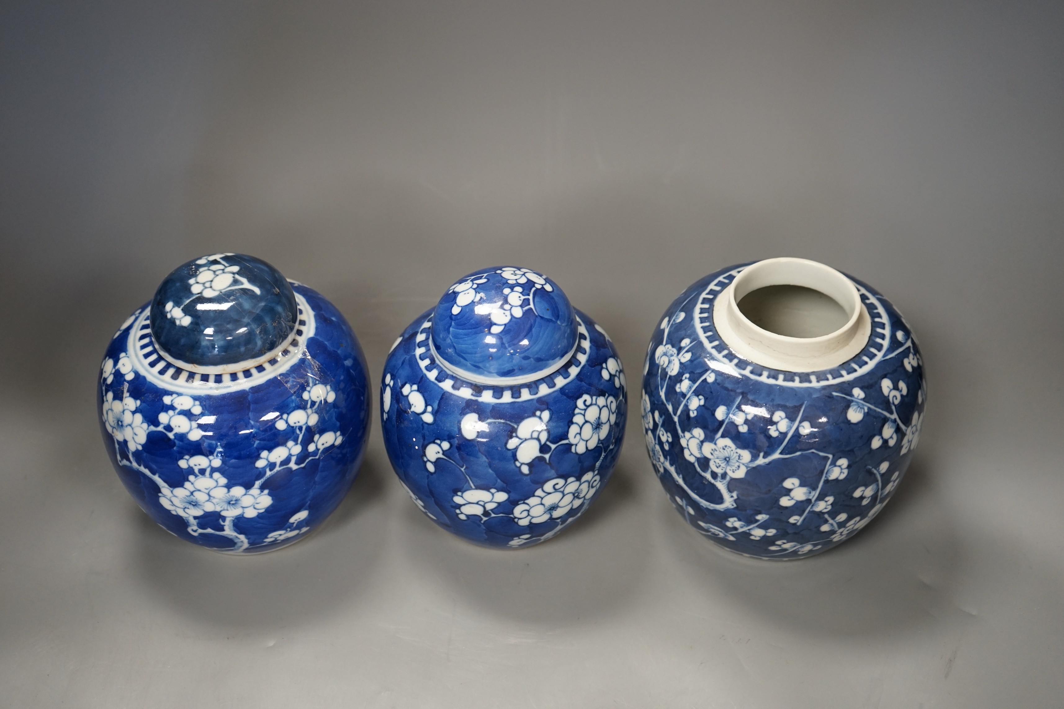
{"type": "Polygon", "coordinates": [[[100,370],[118,477],[164,529],[218,552],[302,539],[347,494],[368,379],[344,316],[253,256],[177,268],[115,333],[100,370]]]}

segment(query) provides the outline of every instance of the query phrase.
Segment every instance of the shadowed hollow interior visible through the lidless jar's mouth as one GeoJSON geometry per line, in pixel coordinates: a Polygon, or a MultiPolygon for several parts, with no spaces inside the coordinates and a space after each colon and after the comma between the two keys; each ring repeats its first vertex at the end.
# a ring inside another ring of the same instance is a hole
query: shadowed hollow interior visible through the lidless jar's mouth
{"type": "Polygon", "coordinates": [[[795,285],[764,286],[738,301],[739,311],[762,330],[785,337],[821,337],[846,325],[850,315],[830,296],[795,285]]]}

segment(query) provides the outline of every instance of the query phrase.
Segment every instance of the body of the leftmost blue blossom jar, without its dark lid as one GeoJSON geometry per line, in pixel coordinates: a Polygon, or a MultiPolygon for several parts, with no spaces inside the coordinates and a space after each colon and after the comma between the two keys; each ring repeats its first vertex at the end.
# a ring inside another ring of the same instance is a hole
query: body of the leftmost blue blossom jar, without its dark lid
{"type": "Polygon", "coordinates": [[[344,317],[292,283],[290,348],[225,374],[185,371],[159,354],[149,308],[115,334],[98,404],[126,489],[167,531],[218,552],[298,541],[339,505],[365,449],[365,358],[344,317]]]}

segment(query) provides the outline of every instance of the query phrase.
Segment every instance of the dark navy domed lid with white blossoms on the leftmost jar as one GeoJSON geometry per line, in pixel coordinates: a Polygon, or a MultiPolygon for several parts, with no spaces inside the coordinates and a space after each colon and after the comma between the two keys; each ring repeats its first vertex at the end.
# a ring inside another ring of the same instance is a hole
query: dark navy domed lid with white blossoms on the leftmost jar
{"type": "Polygon", "coordinates": [[[268,361],[299,319],[296,294],[254,256],[212,254],[179,266],[151,302],[151,335],[170,362],[221,374],[268,361]]]}

